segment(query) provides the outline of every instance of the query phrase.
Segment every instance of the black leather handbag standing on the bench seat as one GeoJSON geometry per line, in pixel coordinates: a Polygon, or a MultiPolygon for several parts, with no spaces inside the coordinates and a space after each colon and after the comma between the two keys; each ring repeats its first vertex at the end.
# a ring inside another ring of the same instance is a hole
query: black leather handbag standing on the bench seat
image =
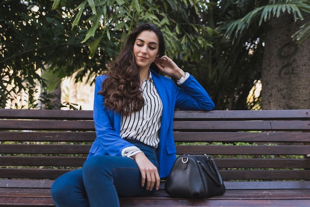
{"type": "Polygon", "coordinates": [[[202,199],[223,195],[225,185],[210,155],[181,155],[170,171],[165,191],[174,197],[202,199]]]}

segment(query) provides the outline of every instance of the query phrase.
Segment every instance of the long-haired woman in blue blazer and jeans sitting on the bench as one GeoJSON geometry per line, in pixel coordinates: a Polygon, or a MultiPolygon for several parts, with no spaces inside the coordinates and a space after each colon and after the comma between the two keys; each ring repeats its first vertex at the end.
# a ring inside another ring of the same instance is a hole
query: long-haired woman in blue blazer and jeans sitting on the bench
{"type": "Polygon", "coordinates": [[[97,138],[83,168],[53,183],[55,205],[117,207],[118,196],[158,190],[176,159],[175,107],[211,110],[214,104],[193,76],[164,55],[160,30],[142,24],[129,35],[110,71],[96,79],[97,138]],[[175,77],[182,88],[150,67],[175,77]]]}

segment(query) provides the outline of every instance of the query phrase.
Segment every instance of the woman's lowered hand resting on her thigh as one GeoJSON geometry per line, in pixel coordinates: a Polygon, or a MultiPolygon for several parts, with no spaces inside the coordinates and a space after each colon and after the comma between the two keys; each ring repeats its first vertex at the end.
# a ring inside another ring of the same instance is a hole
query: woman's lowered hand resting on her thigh
{"type": "Polygon", "coordinates": [[[152,191],[154,185],[156,184],[156,190],[158,190],[160,177],[157,167],[142,152],[131,156],[131,158],[136,161],[140,169],[141,186],[144,187],[146,184],[146,189],[152,191]]]}

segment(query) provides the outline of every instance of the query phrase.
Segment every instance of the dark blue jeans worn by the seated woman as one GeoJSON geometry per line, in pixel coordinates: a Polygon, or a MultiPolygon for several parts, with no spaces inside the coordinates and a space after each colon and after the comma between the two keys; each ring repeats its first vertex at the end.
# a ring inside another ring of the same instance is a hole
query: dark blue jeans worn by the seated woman
{"type": "MultiPolygon", "coordinates": [[[[132,140],[157,167],[153,147],[132,140]]],[[[61,175],[52,184],[56,207],[119,207],[118,196],[132,197],[155,192],[141,187],[141,173],[136,162],[122,156],[93,156],[83,168],[61,175]]]]}

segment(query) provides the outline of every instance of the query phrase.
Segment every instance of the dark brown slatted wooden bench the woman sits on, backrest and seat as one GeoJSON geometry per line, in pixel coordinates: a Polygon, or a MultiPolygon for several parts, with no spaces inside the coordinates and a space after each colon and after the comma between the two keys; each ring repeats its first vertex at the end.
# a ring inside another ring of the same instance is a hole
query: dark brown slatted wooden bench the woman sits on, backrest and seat
{"type": "MultiPolygon", "coordinates": [[[[178,154],[215,157],[223,196],[155,195],[121,206],[309,206],[310,110],[176,111],[178,154]]],[[[80,167],[96,135],[92,111],[0,109],[0,206],[53,206],[50,187],[80,167]]]]}

